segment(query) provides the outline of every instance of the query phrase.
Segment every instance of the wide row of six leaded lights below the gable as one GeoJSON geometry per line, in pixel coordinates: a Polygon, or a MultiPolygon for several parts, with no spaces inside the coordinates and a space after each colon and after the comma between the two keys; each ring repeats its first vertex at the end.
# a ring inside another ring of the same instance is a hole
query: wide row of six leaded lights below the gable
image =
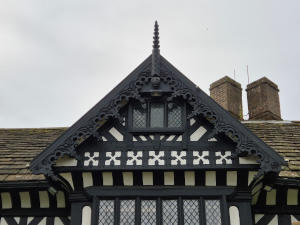
{"type": "Polygon", "coordinates": [[[100,199],[98,225],[222,225],[221,199],[100,199]]]}

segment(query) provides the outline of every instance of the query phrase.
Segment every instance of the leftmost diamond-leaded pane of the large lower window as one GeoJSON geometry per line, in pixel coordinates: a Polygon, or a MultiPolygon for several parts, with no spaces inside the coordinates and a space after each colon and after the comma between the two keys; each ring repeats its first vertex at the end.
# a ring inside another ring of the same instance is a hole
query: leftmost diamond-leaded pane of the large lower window
{"type": "Polygon", "coordinates": [[[114,201],[101,200],[99,202],[99,220],[98,225],[114,224],[114,201]]]}

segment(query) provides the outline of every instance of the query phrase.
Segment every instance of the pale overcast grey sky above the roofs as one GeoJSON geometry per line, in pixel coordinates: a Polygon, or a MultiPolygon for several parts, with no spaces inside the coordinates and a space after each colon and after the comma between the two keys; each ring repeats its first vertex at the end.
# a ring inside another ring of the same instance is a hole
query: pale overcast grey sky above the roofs
{"type": "Polygon", "coordinates": [[[248,64],[300,120],[299,12],[299,0],[1,0],[0,127],[72,125],[151,54],[156,19],[161,54],[206,93],[234,69],[245,89],[248,64]]]}

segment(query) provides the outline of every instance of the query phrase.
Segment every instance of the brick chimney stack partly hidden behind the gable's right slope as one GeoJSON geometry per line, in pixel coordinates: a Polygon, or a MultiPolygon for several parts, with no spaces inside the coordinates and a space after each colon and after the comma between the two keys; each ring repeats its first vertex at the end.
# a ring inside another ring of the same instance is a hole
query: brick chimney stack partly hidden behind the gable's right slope
{"type": "Polygon", "coordinates": [[[210,96],[235,118],[243,119],[241,84],[228,76],[210,85],[210,96]]]}

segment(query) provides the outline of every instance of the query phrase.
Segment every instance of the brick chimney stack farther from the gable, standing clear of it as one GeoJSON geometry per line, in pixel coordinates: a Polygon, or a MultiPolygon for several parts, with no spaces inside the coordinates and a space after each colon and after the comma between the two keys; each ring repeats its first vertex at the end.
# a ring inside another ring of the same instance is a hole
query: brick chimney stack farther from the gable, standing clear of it
{"type": "Polygon", "coordinates": [[[282,120],[278,86],[263,77],[247,85],[249,120],[282,120]]]}

